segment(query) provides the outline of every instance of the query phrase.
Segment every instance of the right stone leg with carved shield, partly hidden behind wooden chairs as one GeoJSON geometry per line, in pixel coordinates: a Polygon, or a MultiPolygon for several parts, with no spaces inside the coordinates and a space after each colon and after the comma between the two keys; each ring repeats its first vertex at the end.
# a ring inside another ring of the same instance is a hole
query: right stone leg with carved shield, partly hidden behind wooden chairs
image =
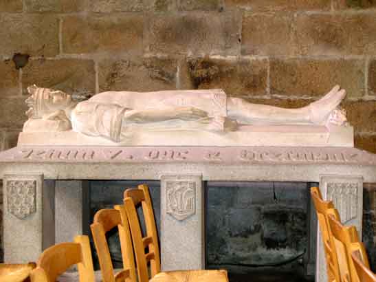
{"type": "MultiPolygon", "coordinates": [[[[342,224],[353,225],[362,238],[363,217],[363,182],[362,176],[322,175],[320,191],[322,197],[333,201],[340,213],[342,224]]],[[[316,256],[316,282],[327,281],[327,262],[324,258],[324,248],[320,228],[318,227],[318,246],[316,256]]]]}

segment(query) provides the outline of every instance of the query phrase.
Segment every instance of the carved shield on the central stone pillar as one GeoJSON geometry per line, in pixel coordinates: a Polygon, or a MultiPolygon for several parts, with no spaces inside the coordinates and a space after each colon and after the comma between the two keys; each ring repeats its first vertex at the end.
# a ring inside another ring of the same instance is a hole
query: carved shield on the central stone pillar
{"type": "Polygon", "coordinates": [[[184,220],[196,213],[196,182],[166,182],[166,211],[177,220],[184,220]]]}

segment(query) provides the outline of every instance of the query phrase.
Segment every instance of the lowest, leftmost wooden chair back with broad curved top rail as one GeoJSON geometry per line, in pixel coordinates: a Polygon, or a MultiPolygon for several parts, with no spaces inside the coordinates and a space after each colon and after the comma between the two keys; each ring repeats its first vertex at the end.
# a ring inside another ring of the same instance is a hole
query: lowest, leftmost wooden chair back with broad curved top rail
{"type": "Polygon", "coordinates": [[[47,248],[30,274],[32,282],[54,282],[71,265],[78,266],[80,282],[94,282],[89,237],[79,235],[72,243],[58,243],[47,248]]]}

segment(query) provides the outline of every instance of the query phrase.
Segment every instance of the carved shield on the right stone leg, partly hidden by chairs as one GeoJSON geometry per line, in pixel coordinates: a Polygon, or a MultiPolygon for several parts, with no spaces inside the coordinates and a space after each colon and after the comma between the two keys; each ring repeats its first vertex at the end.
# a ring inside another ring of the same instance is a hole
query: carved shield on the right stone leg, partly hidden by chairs
{"type": "Polygon", "coordinates": [[[357,217],[357,183],[328,182],[327,198],[338,209],[342,222],[346,223],[357,217]]]}

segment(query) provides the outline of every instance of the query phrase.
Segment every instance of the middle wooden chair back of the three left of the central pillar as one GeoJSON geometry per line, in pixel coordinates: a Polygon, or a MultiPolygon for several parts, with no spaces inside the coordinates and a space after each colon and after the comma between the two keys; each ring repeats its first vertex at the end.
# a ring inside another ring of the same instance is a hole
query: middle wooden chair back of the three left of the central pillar
{"type": "Polygon", "coordinates": [[[124,206],[98,210],[90,226],[98,253],[103,282],[136,282],[131,232],[124,206]],[[118,226],[123,270],[114,274],[106,232],[118,226]]]}

